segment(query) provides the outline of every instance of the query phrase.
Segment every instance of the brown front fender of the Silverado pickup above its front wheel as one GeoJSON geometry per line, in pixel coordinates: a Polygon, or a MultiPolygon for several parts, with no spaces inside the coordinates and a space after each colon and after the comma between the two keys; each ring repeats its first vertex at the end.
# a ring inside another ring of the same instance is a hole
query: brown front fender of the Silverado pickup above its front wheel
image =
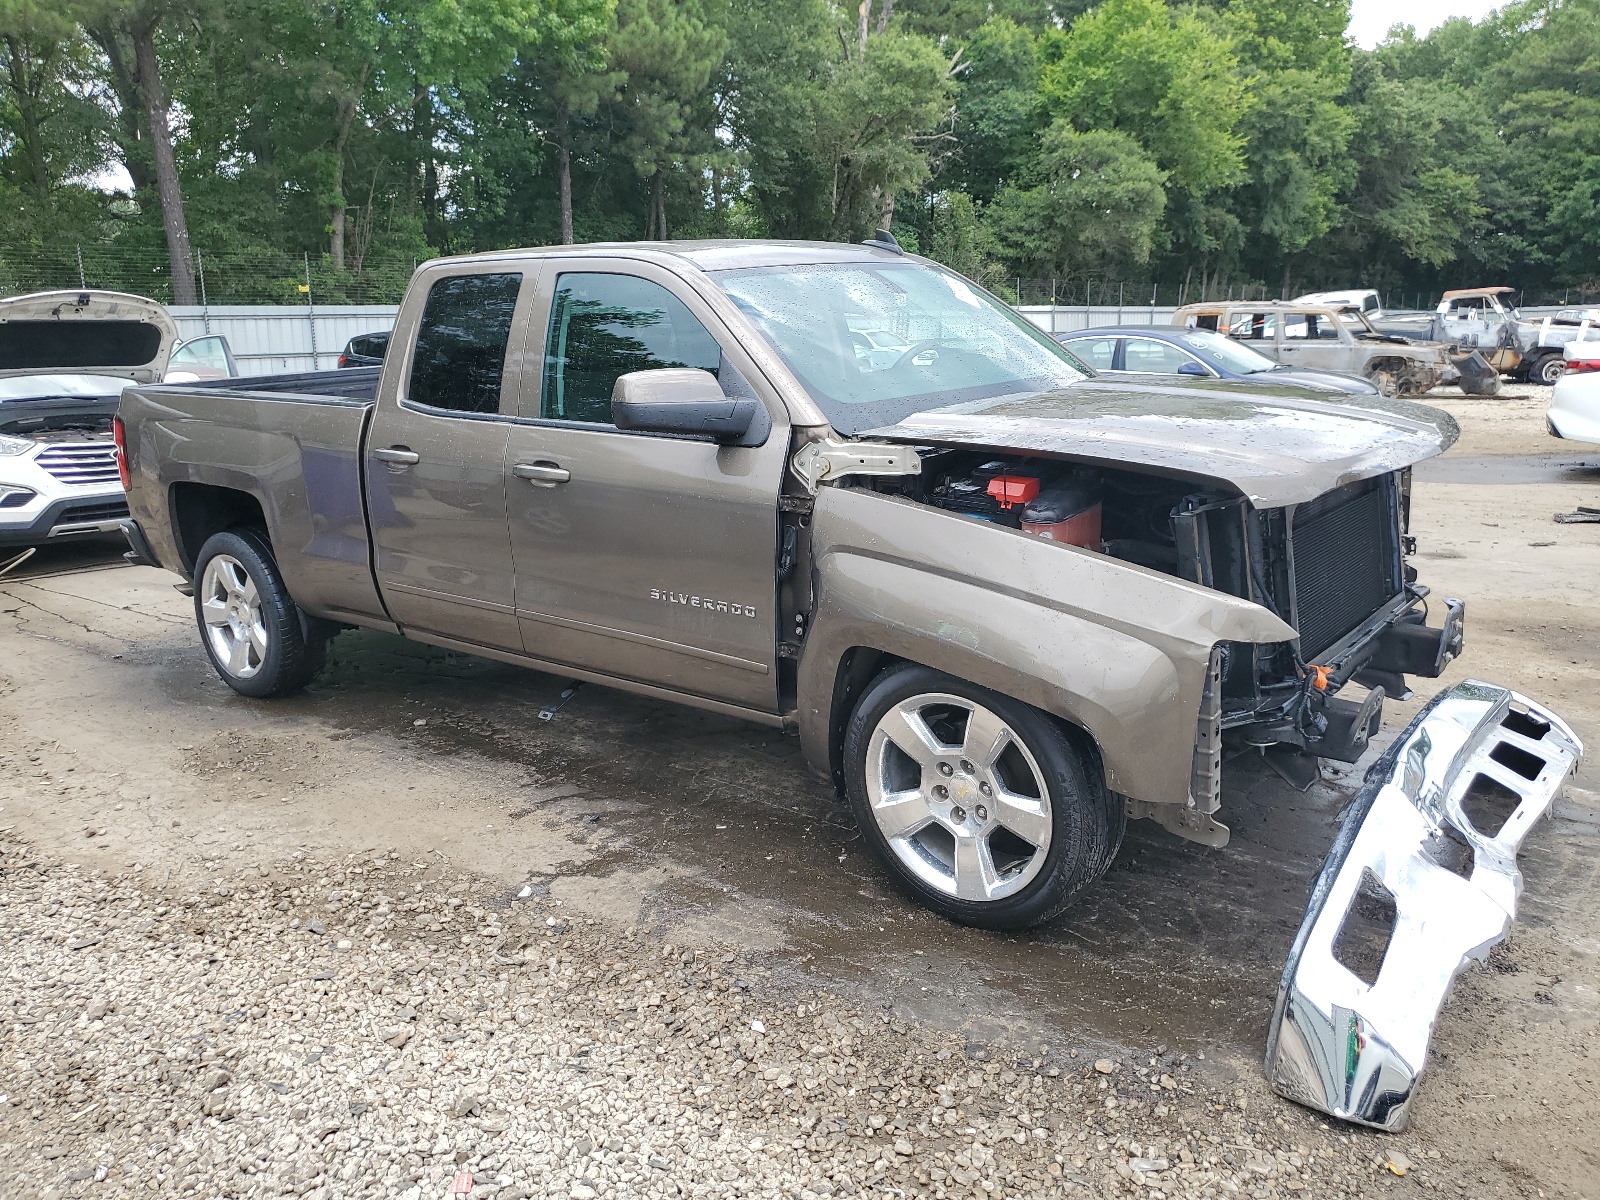
{"type": "Polygon", "coordinates": [[[832,760],[840,662],[920,662],[1082,726],[1107,786],[1186,803],[1211,646],[1288,642],[1266,608],[1102,554],[864,488],[821,488],[800,736],[832,760]]]}

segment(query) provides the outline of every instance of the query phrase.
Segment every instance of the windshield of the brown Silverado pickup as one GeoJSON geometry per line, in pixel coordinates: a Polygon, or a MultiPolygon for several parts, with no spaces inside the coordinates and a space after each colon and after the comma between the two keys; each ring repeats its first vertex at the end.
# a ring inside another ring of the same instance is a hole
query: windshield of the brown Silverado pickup
{"type": "Polygon", "coordinates": [[[957,275],[923,262],[717,272],[842,434],[1093,374],[957,275]]]}

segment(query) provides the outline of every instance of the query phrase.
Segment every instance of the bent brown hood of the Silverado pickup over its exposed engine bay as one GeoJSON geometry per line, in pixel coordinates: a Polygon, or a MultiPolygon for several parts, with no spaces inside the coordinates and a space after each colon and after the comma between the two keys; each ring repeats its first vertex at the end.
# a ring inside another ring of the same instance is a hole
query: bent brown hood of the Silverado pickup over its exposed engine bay
{"type": "Polygon", "coordinates": [[[1197,382],[1085,379],[914,413],[861,437],[1146,467],[1229,483],[1270,509],[1408,467],[1461,435],[1448,413],[1406,400],[1322,400],[1288,389],[1234,389],[1221,379],[1197,382]]]}

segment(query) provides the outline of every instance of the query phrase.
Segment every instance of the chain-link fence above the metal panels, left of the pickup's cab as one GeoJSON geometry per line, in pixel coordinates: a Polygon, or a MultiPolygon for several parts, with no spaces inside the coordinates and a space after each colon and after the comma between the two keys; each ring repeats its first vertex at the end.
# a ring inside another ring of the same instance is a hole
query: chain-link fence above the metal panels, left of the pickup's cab
{"type": "MultiPolygon", "coordinates": [[[[371,256],[336,270],[331,262],[286,251],[194,251],[198,304],[398,304],[418,259],[371,256]]],[[[165,246],[5,245],[0,294],[99,288],[173,304],[165,246]]]]}

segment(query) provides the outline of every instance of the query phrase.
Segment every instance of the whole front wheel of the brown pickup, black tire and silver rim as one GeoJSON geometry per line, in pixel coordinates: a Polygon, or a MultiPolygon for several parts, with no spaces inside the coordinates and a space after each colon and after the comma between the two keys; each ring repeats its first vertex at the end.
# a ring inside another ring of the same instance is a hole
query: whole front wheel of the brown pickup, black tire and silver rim
{"type": "Polygon", "coordinates": [[[1110,866],[1126,813],[1050,715],[930,667],[891,667],[845,731],[845,790],[896,883],[986,930],[1050,920],[1110,866]]]}

